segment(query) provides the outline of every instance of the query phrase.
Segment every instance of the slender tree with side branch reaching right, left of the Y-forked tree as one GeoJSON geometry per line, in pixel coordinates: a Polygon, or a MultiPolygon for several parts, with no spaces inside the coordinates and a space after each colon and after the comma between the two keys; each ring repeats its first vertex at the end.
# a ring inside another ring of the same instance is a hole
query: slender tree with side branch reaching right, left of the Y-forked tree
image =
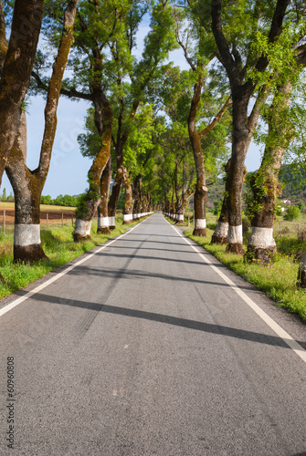
{"type": "Polygon", "coordinates": [[[198,2],[191,2],[191,8],[186,9],[186,11],[189,12],[188,19],[192,25],[193,39],[196,40],[196,48],[193,50],[194,56],[191,56],[189,51],[191,43],[188,30],[182,31],[182,24],[184,24],[186,17],[185,15],[180,17],[178,12],[176,12],[176,38],[179,45],[183,48],[185,59],[191,68],[190,83],[194,86],[187,119],[196,172],[194,235],[206,236],[206,202],[208,190],[206,187],[206,170],[202,142],[205,136],[216,127],[227,112],[231,104],[231,98],[220,96],[220,93],[218,94],[219,99],[215,98],[212,100],[209,99],[209,95],[207,96],[207,67],[212,58],[215,57],[215,54],[210,46],[210,36],[206,31],[206,16],[202,15],[198,2]],[[202,94],[203,89],[204,94],[202,94]],[[204,102],[206,112],[203,112],[203,98],[206,101],[204,102]],[[207,107],[207,102],[210,102],[209,108],[207,107]],[[217,113],[216,117],[212,117],[212,112],[217,113]],[[198,125],[199,119],[202,120],[200,126],[198,125]],[[207,119],[209,119],[208,122],[207,119]]]}

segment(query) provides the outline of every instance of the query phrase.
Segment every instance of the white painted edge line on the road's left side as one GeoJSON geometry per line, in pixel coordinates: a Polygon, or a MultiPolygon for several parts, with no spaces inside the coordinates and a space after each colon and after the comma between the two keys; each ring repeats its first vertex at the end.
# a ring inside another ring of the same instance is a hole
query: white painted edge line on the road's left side
{"type": "MultiPolygon", "coordinates": [[[[147,220],[147,219],[145,219],[147,220]]],[[[126,234],[129,234],[131,233],[135,228],[137,228],[138,226],[140,226],[143,222],[145,222],[145,220],[142,220],[141,223],[138,223],[137,225],[133,226],[131,228],[131,230],[129,230],[128,232],[126,233],[123,233],[121,234],[120,236],[116,237],[116,239],[113,239],[110,243],[107,243],[107,244],[103,244],[99,249],[97,249],[95,252],[93,252],[92,254],[88,255],[88,256],[85,256],[85,258],[82,258],[81,260],[79,260],[77,263],[75,264],[72,264],[71,266],[69,266],[67,269],[65,269],[65,271],[61,272],[61,273],[58,273],[57,275],[54,275],[54,277],[48,279],[46,282],[44,282],[43,284],[41,285],[38,285],[36,288],[34,288],[34,290],[32,291],[29,291],[28,293],[26,293],[26,295],[24,296],[21,296],[21,297],[18,297],[17,299],[15,299],[12,303],[8,304],[7,306],[3,307],[2,309],[0,309],[0,316],[3,316],[6,314],[6,312],[9,312],[10,310],[14,309],[14,307],[16,306],[19,306],[19,304],[23,303],[26,301],[26,299],[29,299],[31,296],[33,295],[36,295],[37,293],[39,293],[41,290],[43,290],[44,288],[46,288],[48,285],[51,285],[53,284],[53,282],[55,282],[56,280],[60,279],[63,275],[66,275],[68,274],[70,271],[72,271],[72,269],[74,269],[75,267],[78,267],[80,264],[83,264],[85,263],[86,261],[90,260],[90,258],[92,258],[92,256],[94,256],[95,254],[99,254],[103,249],[105,249],[106,247],[109,247],[111,244],[115,243],[116,241],[119,241],[119,239],[121,239],[122,237],[126,236],[126,234]]]]}

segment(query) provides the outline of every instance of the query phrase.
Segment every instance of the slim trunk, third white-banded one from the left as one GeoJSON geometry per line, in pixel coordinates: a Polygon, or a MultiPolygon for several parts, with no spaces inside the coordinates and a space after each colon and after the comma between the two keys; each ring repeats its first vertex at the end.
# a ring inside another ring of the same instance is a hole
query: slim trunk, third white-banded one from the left
{"type": "Polygon", "coordinates": [[[97,233],[111,234],[109,222],[109,194],[111,185],[111,157],[100,177],[100,205],[98,207],[97,233]]]}

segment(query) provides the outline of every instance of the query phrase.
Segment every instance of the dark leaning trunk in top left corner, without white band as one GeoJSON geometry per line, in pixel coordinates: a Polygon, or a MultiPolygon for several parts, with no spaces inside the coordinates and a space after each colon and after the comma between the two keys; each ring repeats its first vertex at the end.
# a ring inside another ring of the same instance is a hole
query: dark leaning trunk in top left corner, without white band
{"type": "MultiPolygon", "coordinates": [[[[16,138],[20,106],[30,82],[43,7],[43,0],[16,0],[8,47],[5,35],[1,33],[3,67],[0,79],[0,185],[16,138]]],[[[3,23],[1,30],[4,31],[3,23]]]]}

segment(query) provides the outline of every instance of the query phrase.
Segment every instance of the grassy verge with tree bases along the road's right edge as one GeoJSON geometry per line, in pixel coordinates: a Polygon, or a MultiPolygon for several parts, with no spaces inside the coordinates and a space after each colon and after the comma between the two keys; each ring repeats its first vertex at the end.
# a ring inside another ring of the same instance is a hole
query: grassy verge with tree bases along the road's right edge
{"type": "MultiPolygon", "coordinates": [[[[297,289],[297,277],[301,253],[306,252],[306,242],[293,237],[275,236],[278,254],[274,256],[269,266],[257,261],[247,263],[242,255],[227,254],[226,245],[210,244],[215,229],[215,223],[207,220],[207,236],[193,236],[193,229],[185,231],[185,235],[202,245],[208,252],[237,275],[256,285],[272,298],[278,306],[287,308],[306,322],[306,290],[297,289]]],[[[244,234],[244,244],[247,246],[249,233],[244,234]]]]}

